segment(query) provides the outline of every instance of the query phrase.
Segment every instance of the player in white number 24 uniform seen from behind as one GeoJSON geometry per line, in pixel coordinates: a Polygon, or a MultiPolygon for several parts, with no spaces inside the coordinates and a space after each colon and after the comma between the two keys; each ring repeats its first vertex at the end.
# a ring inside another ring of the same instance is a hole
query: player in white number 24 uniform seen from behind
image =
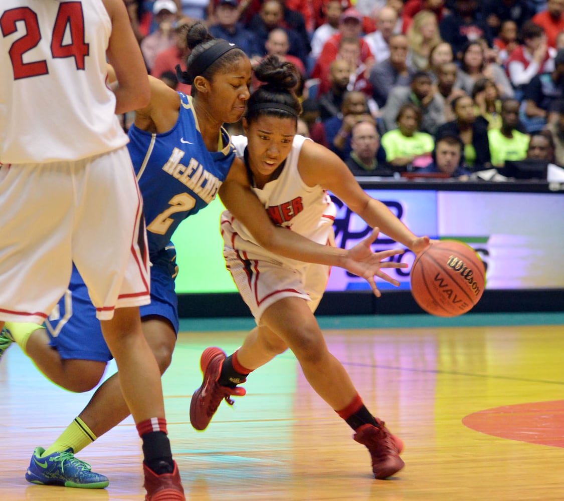
{"type": "Polygon", "coordinates": [[[116,113],[146,105],[149,86],[124,3],[3,0],[0,68],[0,327],[45,320],[74,262],[143,439],[147,500],[183,500],[139,315],[147,237],[116,113]]]}

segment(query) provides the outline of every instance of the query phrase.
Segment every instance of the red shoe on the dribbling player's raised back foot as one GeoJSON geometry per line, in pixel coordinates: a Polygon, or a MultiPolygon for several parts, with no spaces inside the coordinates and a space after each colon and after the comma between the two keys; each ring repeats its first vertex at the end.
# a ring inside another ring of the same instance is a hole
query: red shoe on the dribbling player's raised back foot
{"type": "Polygon", "coordinates": [[[233,405],[235,402],[231,396],[244,396],[245,388],[230,388],[217,382],[223,361],[227,358],[225,352],[219,348],[206,348],[200,357],[200,368],[204,374],[204,381],[192,395],[190,402],[190,423],[192,426],[202,431],[208,427],[215,411],[225,399],[227,404],[233,405]]]}

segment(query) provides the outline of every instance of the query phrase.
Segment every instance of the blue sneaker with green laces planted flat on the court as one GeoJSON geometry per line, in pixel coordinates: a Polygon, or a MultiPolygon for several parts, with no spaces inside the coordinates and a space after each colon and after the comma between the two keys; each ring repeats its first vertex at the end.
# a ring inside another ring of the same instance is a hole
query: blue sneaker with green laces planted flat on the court
{"type": "Polygon", "coordinates": [[[32,484],[62,485],[80,489],[103,489],[109,484],[108,477],[92,473],[90,464],[75,458],[68,449],[64,453],[52,453],[41,457],[43,447],[33,451],[25,480],[32,484]]]}

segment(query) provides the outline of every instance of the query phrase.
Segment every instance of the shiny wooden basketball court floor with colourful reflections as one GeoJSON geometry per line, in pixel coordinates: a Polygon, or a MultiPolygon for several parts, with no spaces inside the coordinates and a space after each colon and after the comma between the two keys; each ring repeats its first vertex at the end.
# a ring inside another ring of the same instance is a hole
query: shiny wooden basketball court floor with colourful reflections
{"type": "MultiPolygon", "coordinates": [[[[232,352],[253,323],[183,320],[163,384],[187,499],[564,499],[564,314],[319,320],[369,409],[406,442],[406,467],[374,480],[368,451],[289,352],[255,371],[247,396],[233,408],[223,402],[205,432],[194,431],[200,353],[208,345],[232,352]]],[[[33,449],[49,445],[91,393],[47,382],[17,346],[0,362],[0,382],[0,500],[143,499],[131,418],[79,455],[110,478],[107,489],[28,484],[33,449]]]]}

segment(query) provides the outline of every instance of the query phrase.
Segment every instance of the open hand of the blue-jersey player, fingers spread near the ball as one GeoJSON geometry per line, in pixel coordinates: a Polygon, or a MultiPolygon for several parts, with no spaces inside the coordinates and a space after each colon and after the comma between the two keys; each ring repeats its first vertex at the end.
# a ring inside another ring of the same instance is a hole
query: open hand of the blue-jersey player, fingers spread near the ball
{"type": "MultiPolygon", "coordinates": [[[[381,268],[407,268],[407,263],[396,263],[395,261],[382,262],[382,260],[390,258],[391,256],[402,254],[402,252],[405,252],[405,249],[390,249],[382,252],[372,252],[370,246],[374,240],[376,240],[378,233],[380,233],[380,229],[374,228],[367,238],[352,247],[352,249],[349,249],[343,262],[343,268],[367,280],[372,287],[374,295],[377,298],[380,298],[382,294],[376,286],[374,277],[380,277],[386,282],[399,286],[399,281],[382,272],[381,268]]],[[[427,238],[427,240],[429,241],[429,238],[427,238]]]]}

